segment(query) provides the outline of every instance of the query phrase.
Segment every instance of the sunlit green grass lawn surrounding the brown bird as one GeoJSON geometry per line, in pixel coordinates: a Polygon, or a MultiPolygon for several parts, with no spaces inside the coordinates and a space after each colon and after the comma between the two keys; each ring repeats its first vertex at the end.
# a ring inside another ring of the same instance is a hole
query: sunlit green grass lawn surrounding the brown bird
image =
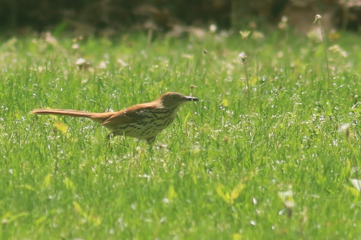
{"type": "Polygon", "coordinates": [[[3,41],[0,239],[357,239],[359,40],[329,44],[348,53],[329,50],[330,93],[323,44],[278,32],[149,46],[141,34],[88,38],[78,49],[3,41]],[[201,101],[184,104],[153,148],[117,137],[108,149],[106,129],[88,119],[29,113],[121,110],[167,91],[201,101]]]}

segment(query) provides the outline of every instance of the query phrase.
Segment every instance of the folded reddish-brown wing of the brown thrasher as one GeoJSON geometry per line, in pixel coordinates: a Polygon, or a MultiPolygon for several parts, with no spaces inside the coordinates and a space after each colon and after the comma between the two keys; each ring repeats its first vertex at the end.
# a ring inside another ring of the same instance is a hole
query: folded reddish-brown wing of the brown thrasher
{"type": "Polygon", "coordinates": [[[144,107],[136,105],[117,113],[114,113],[110,118],[106,119],[103,124],[104,127],[112,127],[118,124],[128,124],[142,121],[146,116],[143,112],[144,107]]]}

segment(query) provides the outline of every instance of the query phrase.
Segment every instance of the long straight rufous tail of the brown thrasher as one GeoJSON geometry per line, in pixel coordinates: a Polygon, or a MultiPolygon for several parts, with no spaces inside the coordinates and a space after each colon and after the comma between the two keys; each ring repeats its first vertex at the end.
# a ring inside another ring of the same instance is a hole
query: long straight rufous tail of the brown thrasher
{"type": "Polygon", "coordinates": [[[40,115],[57,115],[57,116],[70,116],[70,117],[83,117],[90,118],[95,122],[103,123],[106,119],[112,116],[113,112],[106,113],[90,113],[78,110],[62,110],[62,109],[34,109],[30,113],[40,115]]]}

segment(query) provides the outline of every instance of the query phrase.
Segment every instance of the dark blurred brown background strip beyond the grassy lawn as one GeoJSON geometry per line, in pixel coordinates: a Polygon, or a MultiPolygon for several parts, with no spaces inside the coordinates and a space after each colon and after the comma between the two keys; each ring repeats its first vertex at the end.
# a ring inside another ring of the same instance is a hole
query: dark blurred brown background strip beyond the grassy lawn
{"type": "Polygon", "coordinates": [[[283,16],[306,33],[316,14],[325,29],[360,32],[361,0],[1,0],[5,35],[68,32],[109,36],[123,31],[168,32],[277,27],[283,16]],[[191,29],[190,29],[191,28],[191,29]]]}

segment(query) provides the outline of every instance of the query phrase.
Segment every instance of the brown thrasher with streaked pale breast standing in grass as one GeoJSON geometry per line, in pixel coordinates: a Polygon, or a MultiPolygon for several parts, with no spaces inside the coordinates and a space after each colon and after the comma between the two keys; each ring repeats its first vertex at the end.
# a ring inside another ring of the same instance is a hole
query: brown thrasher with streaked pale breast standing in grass
{"type": "Polygon", "coordinates": [[[119,112],[89,113],[77,110],[34,109],[32,114],[51,114],[90,118],[108,128],[113,136],[124,135],[154,142],[158,133],[173,121],[186,101],[199,101],[177,92],[167,92],[150,103],[141,103],[119,112]]]}

